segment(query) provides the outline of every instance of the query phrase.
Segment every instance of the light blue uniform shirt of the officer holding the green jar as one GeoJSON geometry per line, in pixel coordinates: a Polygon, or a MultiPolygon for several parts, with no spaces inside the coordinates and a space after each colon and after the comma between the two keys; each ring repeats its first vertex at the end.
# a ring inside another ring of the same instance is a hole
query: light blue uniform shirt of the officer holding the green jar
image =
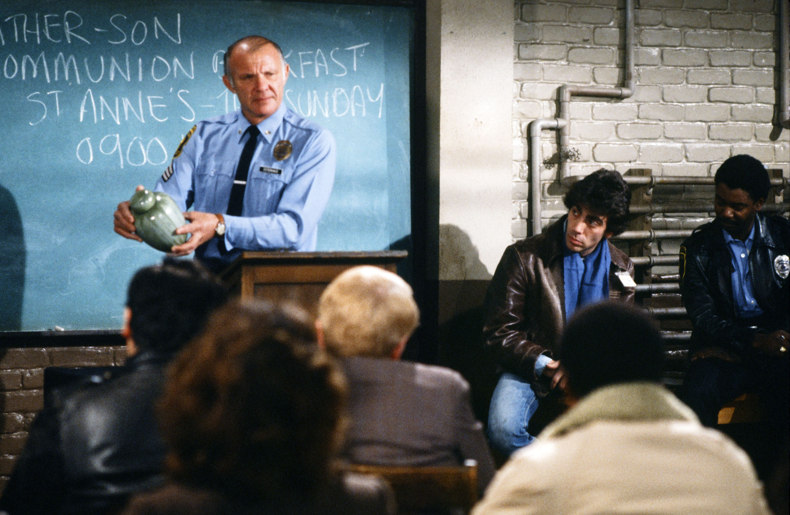
{"type": "MultiPolygon", "coordinates": [[[[241,111],[198,122],[154,189],[170,195],[182,211],[226,212],[250,125],[241,111]]],[[[241,250],[315,250],[318,220],[335,178],[334,137],[284,103],[258,130],[242,214],[224,216],[224,239],[199,247],[195,258],[201,261],[228,264],[241,250]],[[273,153],[280,141],[292,145],[283,160],[273,153]],[[220,242],[230,252],[221,255],[220,242]]]]}

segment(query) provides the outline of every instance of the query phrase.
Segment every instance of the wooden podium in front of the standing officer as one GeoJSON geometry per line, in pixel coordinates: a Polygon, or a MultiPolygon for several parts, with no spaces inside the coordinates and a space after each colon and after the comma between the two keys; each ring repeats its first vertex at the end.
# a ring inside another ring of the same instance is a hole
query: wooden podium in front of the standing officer
{"type": "Polygon", "coordinates": [[[395,273],[405,250],[378,252],[243,252],[220,274],[231,294],[290,302],[316,315],[318,298],[331,280],[357,265],[395,273]]]}

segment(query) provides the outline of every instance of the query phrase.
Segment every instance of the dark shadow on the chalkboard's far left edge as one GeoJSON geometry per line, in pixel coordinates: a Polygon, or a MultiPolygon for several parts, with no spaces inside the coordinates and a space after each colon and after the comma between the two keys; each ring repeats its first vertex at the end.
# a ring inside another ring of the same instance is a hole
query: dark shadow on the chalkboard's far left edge
{"type": "Polygon", "coordinates": [[[26,254],[17,201],[0,185],[0,331],[21,329],[26,254]]]}

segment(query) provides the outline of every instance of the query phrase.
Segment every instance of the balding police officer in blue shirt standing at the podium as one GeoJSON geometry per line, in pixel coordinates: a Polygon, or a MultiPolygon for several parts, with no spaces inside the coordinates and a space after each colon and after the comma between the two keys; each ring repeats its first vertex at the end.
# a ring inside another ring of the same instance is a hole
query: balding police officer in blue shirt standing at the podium
{"type": "MultiPolygon", "coordinates": [[[[219,271],[242,250],[315,250],[334,182],[335,141],[284,106],[288,73],[270,39],[246,36],[228,47],[222,80],[241,109],[194,126],[156,182],[189,222],[175,232],[190,239],[171,254],[194,251],[219,271]]],[[[142,241],[128,201],[118,205],[114,227],[142,241]]]]}

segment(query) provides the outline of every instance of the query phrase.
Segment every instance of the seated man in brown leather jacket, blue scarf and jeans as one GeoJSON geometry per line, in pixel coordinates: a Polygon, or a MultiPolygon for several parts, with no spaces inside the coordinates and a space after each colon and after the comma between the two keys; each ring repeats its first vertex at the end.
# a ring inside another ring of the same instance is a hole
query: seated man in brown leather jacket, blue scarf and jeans
{"type": "Polygon", "coordinates": [[[483,337],[499,376],[488,438],[505,456],[529,445],[529,420],[552,389],[565,385],[562,329],[577,307],[603,299],[634,301],[634,264],[608,241],[627,223],[630,190],[600,169],[574,184],[568,215],[508,246],[486,295],[483,337]]]}

